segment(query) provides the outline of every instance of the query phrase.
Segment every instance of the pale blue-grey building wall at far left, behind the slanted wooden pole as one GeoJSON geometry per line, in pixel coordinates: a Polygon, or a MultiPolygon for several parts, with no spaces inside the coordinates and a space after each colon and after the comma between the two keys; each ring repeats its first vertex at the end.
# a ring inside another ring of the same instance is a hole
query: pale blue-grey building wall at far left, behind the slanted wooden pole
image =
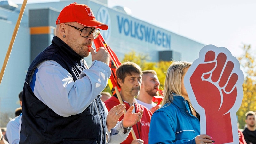
{"type": "MultiPolygon", "coordinates": [[[[16,23],[0,20],[0,66],[4,63],[6,52],[10,45],[16,23]]],[[[0,84],[0,111],[10,111],[14,114],[20,107],[18,94],[23,89],[25,76],[30,64],[30,34],[29,28],[20,26],[14,41],[2,82],[0,84]]]]}

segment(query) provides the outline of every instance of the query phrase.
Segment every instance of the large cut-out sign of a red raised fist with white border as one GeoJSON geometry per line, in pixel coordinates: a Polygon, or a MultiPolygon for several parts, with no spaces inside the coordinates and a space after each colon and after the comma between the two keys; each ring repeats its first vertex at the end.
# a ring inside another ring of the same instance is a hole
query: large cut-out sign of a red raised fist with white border
{"type": "Polygon", "coordinates": [[[184,84],[189,99],[200,114],[201,134],[215,144],[239,143],[236,112],[243,99],[244,75],[228,49],[203,47],[188,69],[184,84]]]}

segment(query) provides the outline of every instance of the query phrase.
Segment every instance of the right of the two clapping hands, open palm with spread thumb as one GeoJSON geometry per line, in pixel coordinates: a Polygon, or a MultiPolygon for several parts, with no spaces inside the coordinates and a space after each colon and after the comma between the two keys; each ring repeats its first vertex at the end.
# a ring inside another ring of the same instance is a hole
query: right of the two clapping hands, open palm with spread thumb
{"type": "Polygon", "coordinates": [[[143,110],[140,110],[138,113],[133,113],[134,106],[131,106],[127,112],[124,114],[124,119],[123,119],[123,126],[124,128],[128,128],[140,121],[143,115],[143,110]]]}

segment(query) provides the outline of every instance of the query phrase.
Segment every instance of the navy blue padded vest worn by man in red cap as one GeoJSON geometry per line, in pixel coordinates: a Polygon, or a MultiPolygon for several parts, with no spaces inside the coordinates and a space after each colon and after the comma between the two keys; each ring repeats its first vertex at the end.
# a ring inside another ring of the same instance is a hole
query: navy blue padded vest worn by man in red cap
{"type": "Polygon", "coordinates": [[[41,52],[28,68],[22,94],[20,144],[106,143],[106,116],[99,96],[82,113],[62,117],[34,95],[29,78],[36,66],[45,60],[58,62],[73,76],[74,81],[85,69],[81,64],[83,57],[54,36],[52,45],[41,52]]]}

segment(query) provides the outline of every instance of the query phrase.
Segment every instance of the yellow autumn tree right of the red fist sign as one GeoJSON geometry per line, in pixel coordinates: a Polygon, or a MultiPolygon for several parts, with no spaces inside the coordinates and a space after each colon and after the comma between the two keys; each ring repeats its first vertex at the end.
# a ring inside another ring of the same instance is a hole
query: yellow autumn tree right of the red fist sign
{"type": "Polygon", "coordinates": [[[245,113],[248,111],[255,111],[256,105],[256,62],[254,53],[251,52],[250,45],[244,45],[243,47],[244,53],[241,57],[238,57],[240,62],[241,69],[244,71],[244,83],[243,83],[243,91],[244,97],[242,100],[242,104],[237,111],[239,127],[244,128],[245,126],[245,113]]]}

